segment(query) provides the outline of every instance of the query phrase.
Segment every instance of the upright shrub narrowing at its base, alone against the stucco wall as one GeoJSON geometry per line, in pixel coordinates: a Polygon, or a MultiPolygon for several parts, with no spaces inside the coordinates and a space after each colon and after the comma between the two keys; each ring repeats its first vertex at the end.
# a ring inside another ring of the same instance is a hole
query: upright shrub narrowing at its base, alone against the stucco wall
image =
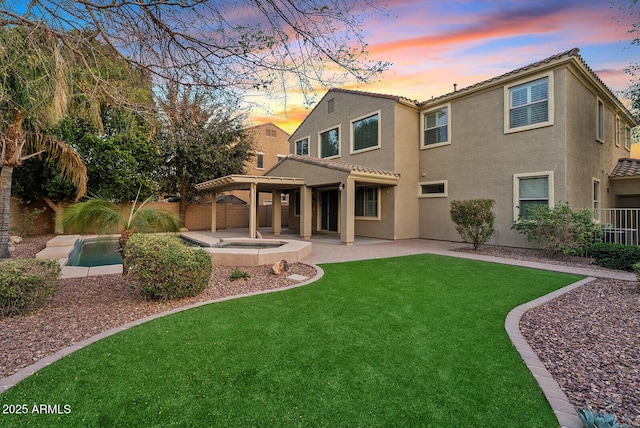
{"type": "Polygon", "coordinates": [[[451,220],[456,224],[456,230],[464,242],[473,244],[473,249],[486,243],[493,235],[495,214],[492,199],[469,199],[466,201],[452,201],[451,220]]]}

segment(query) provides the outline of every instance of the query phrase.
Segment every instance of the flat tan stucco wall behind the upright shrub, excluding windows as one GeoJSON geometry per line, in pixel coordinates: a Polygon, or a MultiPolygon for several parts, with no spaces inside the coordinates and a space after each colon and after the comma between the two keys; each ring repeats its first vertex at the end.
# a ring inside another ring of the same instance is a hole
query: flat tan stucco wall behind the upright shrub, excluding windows
{"type": "MultiPolygon", "coordinates": [[[[562,104],[561,86],[554,79],[555,107],[562,104]]],[[[460,240],[449,215],[451,201],[489,198],[496,201],[500,231],[492,242],[526,246],[526,238],[511,230],[515,174],[553,171],[553,197],[564,199],[563,108],[555,112],[551,126],[505,134],[504,91],[502,86],[494,87],[451,102],[451,144],[420,151],[420,180],[448,184],[447,197],[420,198],[421,237],[460,240]]]]}

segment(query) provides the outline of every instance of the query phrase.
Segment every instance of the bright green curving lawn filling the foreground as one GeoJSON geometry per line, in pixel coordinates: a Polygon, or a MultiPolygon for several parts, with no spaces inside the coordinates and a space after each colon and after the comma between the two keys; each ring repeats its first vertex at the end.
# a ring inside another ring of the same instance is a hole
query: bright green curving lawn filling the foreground
{"type": "Polygon", "coordinates": [[[0,425],[557,426],[504,320],[579,277],[435,255],[322,267],[84,348],[0,395],[70,412],[0,425]]]}

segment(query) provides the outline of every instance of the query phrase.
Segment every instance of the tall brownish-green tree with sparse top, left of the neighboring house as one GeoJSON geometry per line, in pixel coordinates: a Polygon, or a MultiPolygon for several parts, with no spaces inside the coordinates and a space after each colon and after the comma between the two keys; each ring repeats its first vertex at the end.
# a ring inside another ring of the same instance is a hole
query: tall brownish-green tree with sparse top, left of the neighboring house
{"type": "Polygon", "coordinates": [[[195,185],[229,174],[242,174],[252,156],[253,137],[244,116],[220,104],[211,92],[165,87],[160,101],[162,138],[167,147],[165,191],[180,195],[180,215],[196,197],[195,185]]]}

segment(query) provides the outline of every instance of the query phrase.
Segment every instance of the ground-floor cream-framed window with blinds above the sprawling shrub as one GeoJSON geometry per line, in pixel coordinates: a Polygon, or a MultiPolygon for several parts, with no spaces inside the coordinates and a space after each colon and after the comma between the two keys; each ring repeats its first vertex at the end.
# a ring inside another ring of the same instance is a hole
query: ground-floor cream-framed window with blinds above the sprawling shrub
{"type": "Polygon", "coordinates": [[[535,205],[553,208],[553,171],[513,175],[513,219],[527,217],[527,209],[535,205]]]}

